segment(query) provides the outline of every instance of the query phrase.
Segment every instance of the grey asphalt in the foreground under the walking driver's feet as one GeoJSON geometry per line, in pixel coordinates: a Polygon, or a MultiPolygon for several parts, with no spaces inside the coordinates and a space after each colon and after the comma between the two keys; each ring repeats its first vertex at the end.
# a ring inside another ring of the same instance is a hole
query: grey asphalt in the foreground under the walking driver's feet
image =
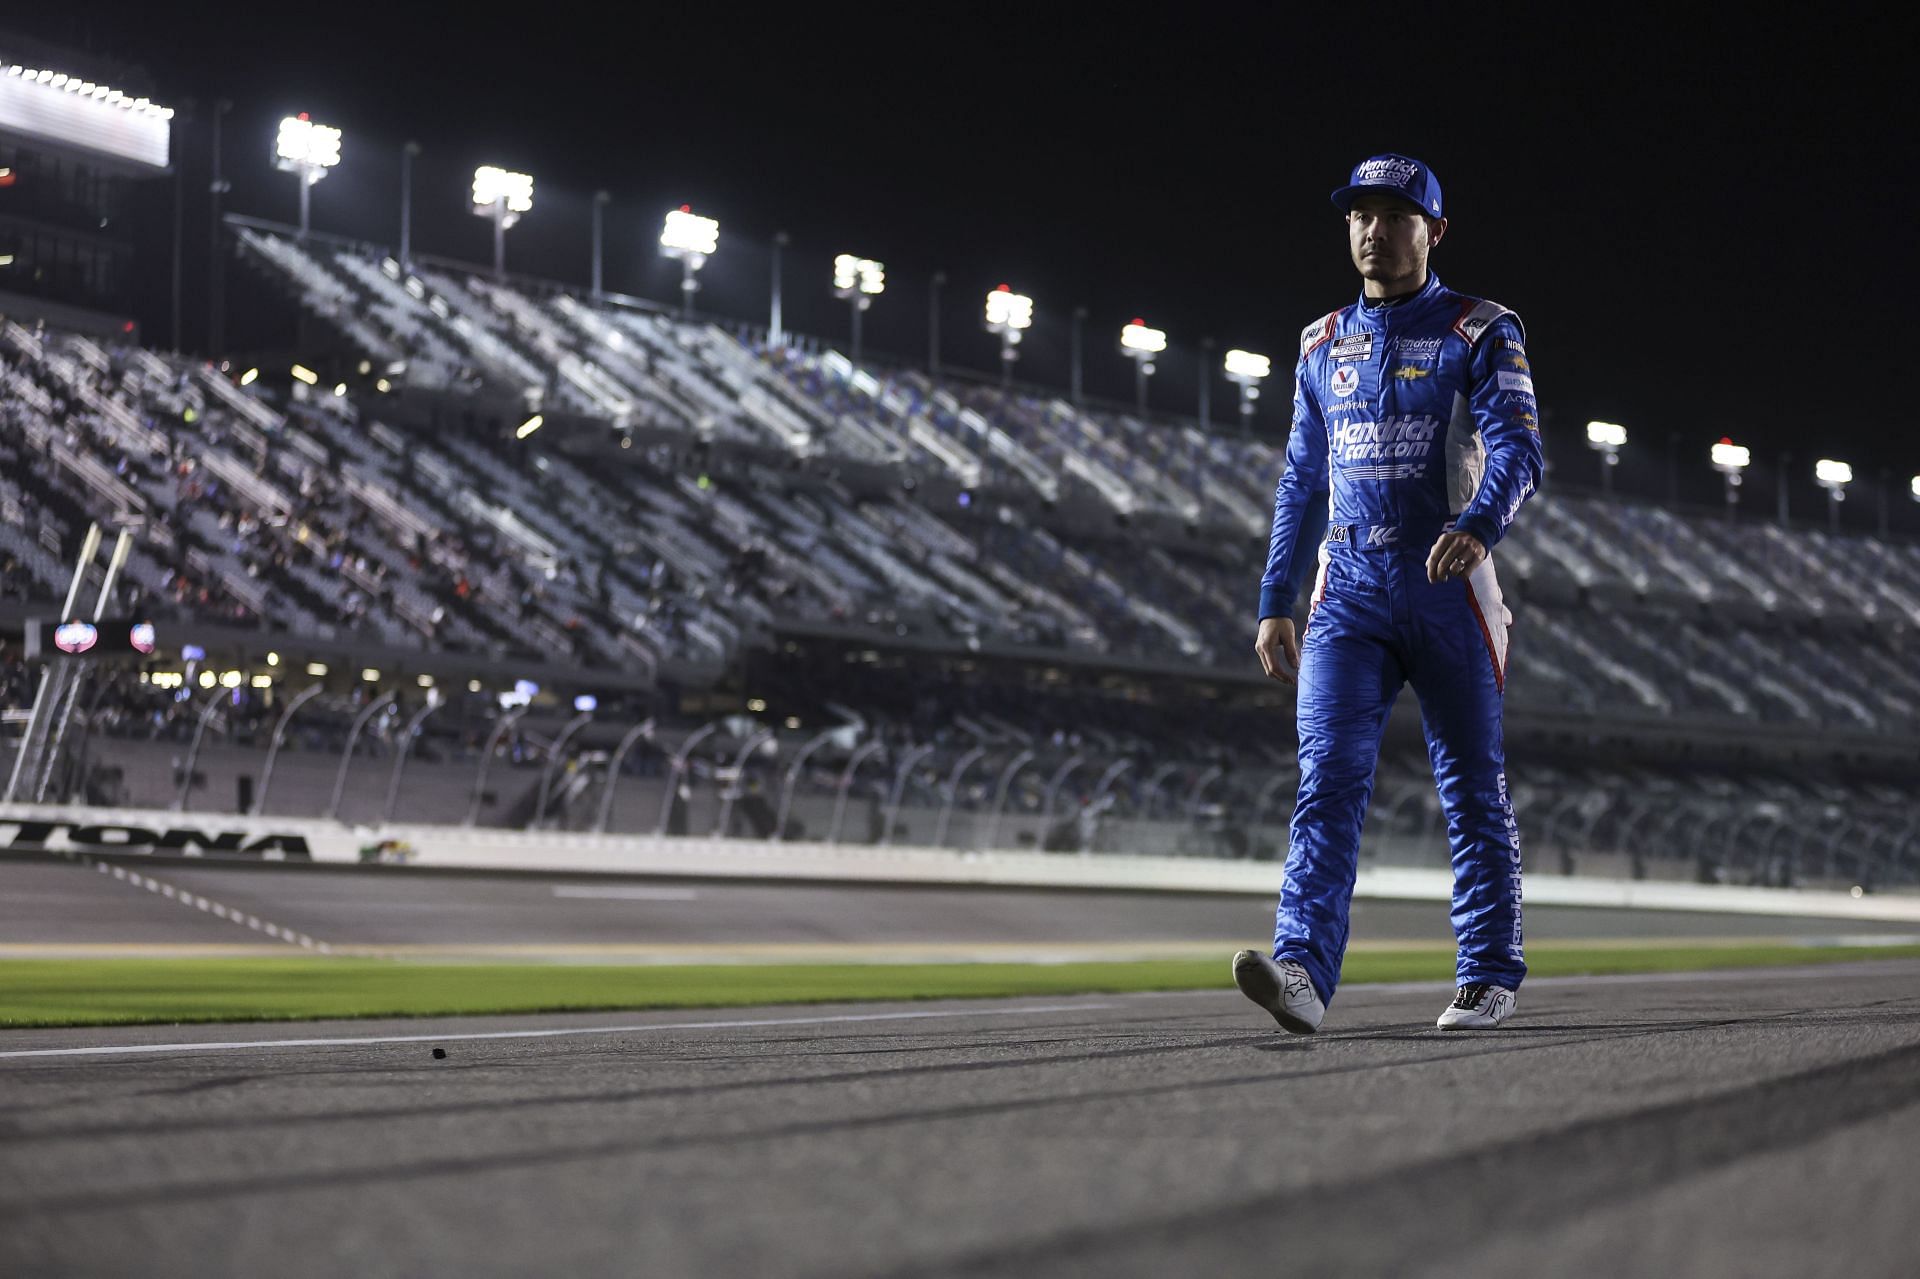
{"type": "Polygon", "coordinates": [[[1446,997],[12,1031],[0,1273],[1912,1273],[1920,962],[1446,997]]]}

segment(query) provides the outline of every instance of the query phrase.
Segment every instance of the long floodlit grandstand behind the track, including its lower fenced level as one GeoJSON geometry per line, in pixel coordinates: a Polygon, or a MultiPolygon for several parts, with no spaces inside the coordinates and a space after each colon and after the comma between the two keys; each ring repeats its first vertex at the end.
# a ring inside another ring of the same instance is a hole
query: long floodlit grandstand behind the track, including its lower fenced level
{"type": "MultiPolygon", "coordinates": [[[[96,689],[58,789],[236,805],[311,664],[275,812],[1284,847],[1290,699],[1248,655],[1271,442],[228,221],[313,353],[0,325],[8,597],[46,613],[86,524],[123,524],[173,638],[96,689]],[[232,695],[152,680],[227,666],[232,695]]],[[[1920,547],[1553,488],[1496,559],[1536,870],[1920,878],[1920,547]]],[[[1411,718],[1367,849],[1444,864],[1411,718]]]]}

